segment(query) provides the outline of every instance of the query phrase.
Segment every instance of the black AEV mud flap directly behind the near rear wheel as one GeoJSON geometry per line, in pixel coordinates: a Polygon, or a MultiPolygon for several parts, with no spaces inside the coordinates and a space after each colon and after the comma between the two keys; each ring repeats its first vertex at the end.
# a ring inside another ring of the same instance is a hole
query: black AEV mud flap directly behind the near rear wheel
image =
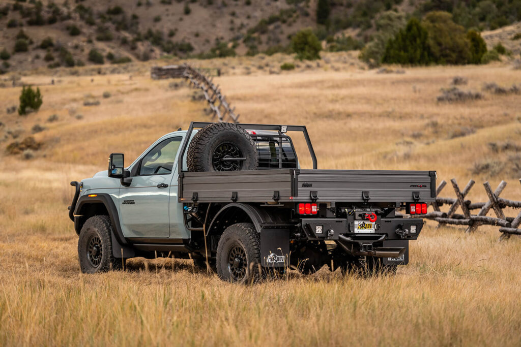
{"type": "Polygon", "coordinates": [[[263,229],[261,231],[262,266],[287,266],[289,253],[290,231],[288,229],[263,229]]]}

